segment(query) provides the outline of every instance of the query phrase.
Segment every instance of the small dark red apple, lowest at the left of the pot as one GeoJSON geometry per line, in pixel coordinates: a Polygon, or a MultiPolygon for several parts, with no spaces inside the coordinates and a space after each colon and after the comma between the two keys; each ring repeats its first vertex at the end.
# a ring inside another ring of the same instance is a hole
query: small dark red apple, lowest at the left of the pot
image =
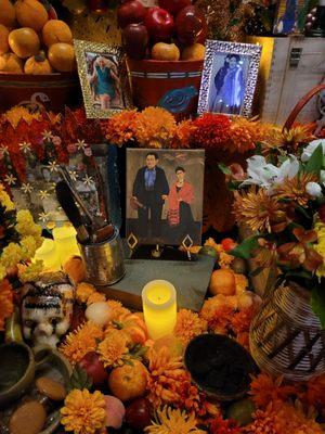
{"type": "Polygon", "coordinates": [[[122,30],[122,38],[129,58],[139,61],[145,58],[148,33],[143,24],[129,24],[122,30]]]}

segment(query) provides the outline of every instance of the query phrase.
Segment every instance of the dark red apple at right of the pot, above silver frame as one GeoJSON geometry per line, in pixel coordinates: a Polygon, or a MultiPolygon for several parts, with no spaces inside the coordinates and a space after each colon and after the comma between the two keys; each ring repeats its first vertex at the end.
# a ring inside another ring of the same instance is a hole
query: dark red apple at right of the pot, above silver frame
{"type": "Polygon", "coordinates": [[[186,7],[176,18],[177,35],[180,42],[191,46],[206,31],[205,16],[195,7],[186,7]]]}

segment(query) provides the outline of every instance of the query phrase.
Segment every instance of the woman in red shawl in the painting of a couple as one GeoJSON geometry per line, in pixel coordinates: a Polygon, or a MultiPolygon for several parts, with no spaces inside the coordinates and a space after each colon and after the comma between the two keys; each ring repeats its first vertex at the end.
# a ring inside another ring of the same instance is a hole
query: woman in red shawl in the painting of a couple
{"type": "Polygon", "coordinates": [[[174,173],[176,181],[171,183],[167,197],[167,219],[169,229],[177,233],[181,242],[187,234],[193,238],[196,230],[191,208],[194,202],[194,188],[185,180],[186,173],[183,167],[177,167],[174,173]]]}

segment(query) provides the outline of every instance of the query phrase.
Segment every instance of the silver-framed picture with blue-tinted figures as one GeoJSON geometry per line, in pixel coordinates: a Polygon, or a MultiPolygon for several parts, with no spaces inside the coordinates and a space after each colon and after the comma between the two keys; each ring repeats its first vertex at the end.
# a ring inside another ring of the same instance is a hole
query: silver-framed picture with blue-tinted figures
{"type": "Polygon", "coordinates": [[[208,40],[198,113],[250,116],[262,47],[208,40]]]}

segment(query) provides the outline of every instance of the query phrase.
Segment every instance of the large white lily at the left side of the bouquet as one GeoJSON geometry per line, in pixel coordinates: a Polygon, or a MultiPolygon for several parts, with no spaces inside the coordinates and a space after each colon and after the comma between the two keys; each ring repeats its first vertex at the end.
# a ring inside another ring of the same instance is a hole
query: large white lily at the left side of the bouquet
{"type": "Polygon", "coordinates": [[[247,164],[248,178],[242,182],[240,187],[255,184],[271,189],[275,183],[281,183],[285,179],[292,179],[299,171],[299,162],[295,155],[289,155],[280,167],[266,163],[261,155],[248,158],[247,164]]]}

